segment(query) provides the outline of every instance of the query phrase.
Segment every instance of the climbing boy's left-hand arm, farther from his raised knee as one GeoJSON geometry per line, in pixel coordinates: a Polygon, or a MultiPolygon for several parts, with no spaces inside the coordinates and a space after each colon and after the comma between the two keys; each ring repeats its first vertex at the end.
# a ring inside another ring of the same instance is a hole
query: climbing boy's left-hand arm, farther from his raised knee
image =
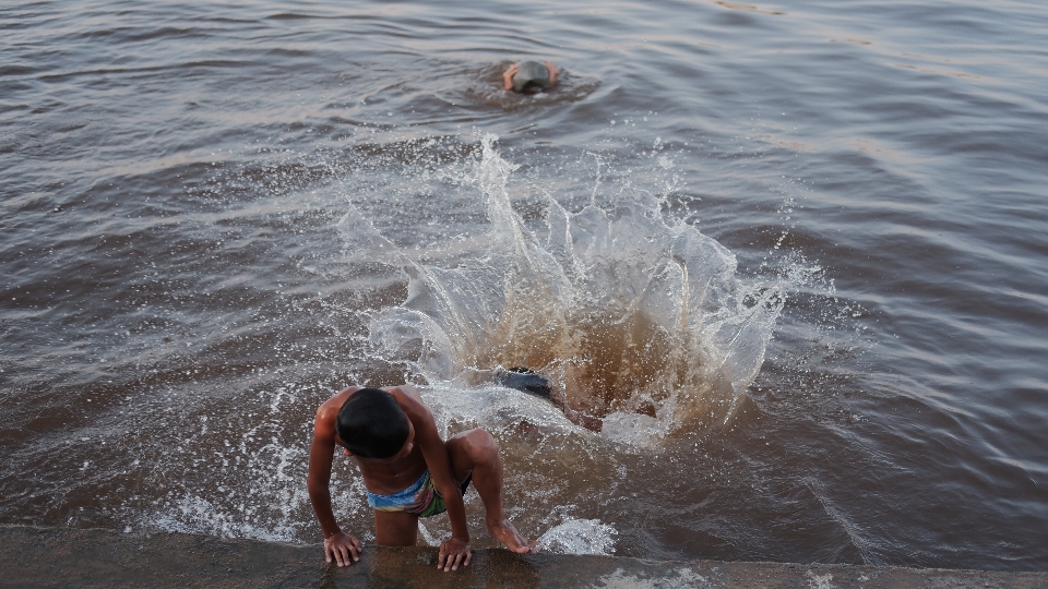
{"type": "MultiPolygon", "coordinates": [[[[337,414],[337,409],[335,414],[337,414]]],[[[349,558],[360,560],[360,541],[338,528],[331,509],[331,465],[335,450],[334,417],[331,409],[321,406],[313,423],[313,442],[309,447],[309,479],[307,489],[313,513],[324,533],[324,557],[338,566],[348,566],[349,558]]]]}

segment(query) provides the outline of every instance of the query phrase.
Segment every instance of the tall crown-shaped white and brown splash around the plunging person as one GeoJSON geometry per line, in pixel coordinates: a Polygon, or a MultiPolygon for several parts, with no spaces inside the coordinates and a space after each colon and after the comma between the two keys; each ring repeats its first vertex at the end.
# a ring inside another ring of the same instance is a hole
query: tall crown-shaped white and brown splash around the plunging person
{"type": "Polygon", "coordinates": [[[343,220],[409,277],[407,300],[373,317],[372,339],[430,383],[528,366],[612,440],[645,444],[729,419],[764,359],[781,289],[739,279],[731,252],[667,220],[657,194],[598,205],[595,191],[575,213],[545,196],[545,227],[529,229],[496,139],[483,139],[460,181],[489,225],[457,267],[412,261],[359,213],[343,220]]]}

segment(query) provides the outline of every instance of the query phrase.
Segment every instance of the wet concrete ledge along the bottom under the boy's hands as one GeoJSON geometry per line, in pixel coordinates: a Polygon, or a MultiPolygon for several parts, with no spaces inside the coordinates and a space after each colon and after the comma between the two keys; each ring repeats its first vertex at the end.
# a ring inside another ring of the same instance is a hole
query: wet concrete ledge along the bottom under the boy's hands
{"type": "Polygon", "coordinates": [[[478,550],[468,567],[443,573],[436,558],[429,548],[369,548],[359,563],[338,569],[323,562],[318,544],[0,526],[0,587],[1048,589],[1048,573],[521,556],[504,550],[478,550]]]}

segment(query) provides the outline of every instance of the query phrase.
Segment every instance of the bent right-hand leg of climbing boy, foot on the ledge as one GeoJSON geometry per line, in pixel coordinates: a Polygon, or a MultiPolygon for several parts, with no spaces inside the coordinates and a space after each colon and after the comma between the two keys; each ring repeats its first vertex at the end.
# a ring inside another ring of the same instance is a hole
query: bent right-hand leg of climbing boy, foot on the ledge
{"type": "Polygon", "coordinates": [[[477,428],[455,435],[444,445],[455,479],[462,482],[473,473],[473,485],[484,502],[488,532],[513,552],[535,552],[536,542],[521,536],[502,513],[502,459],[491,434],[477,428]]]}

